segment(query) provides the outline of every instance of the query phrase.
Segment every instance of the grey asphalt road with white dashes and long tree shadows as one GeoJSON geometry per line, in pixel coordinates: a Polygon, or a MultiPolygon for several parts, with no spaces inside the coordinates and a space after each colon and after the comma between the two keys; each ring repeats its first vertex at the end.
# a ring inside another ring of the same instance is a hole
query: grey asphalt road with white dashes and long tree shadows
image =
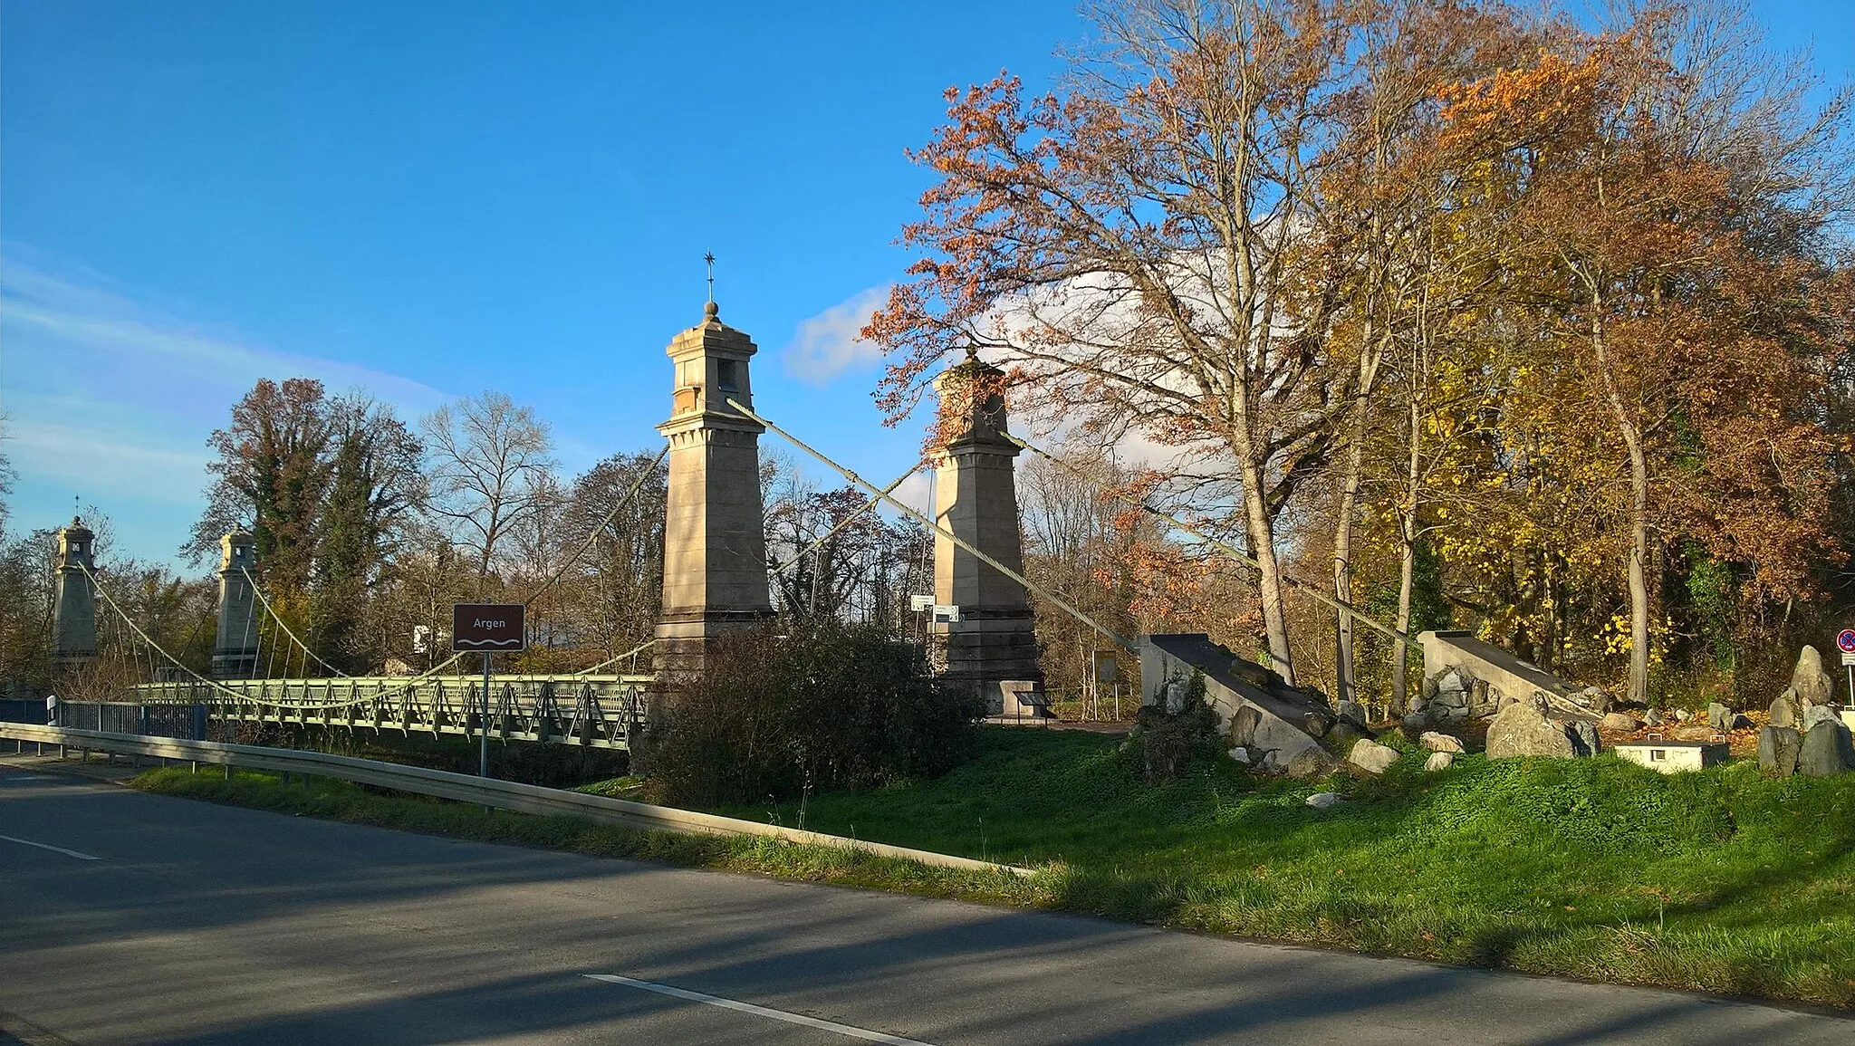
{"type": "Polygon", "coordinates": [[[454,842],[6,764],[0,836],[0,1027],[33,1046],[1855,1042],[1855,1020],[1792,1009],[454,842]]]}

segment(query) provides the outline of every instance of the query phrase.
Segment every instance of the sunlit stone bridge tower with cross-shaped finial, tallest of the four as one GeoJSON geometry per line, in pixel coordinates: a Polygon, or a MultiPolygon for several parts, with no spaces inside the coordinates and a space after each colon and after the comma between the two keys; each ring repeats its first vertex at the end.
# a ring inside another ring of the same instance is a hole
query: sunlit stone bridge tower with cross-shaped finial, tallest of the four
{"type": "Polygon", "coordinates": [[[670,421],[670,493],[664,512],[664,616],[657,664],[668,675],[699,673],[710,642],[774,616],[766,582],[761,506],[761,432],[727,406],[753,406],[748,360],[759,349],[725,326],[710,300],[701,325],[670,343],[675,393],[670,421]]]}

